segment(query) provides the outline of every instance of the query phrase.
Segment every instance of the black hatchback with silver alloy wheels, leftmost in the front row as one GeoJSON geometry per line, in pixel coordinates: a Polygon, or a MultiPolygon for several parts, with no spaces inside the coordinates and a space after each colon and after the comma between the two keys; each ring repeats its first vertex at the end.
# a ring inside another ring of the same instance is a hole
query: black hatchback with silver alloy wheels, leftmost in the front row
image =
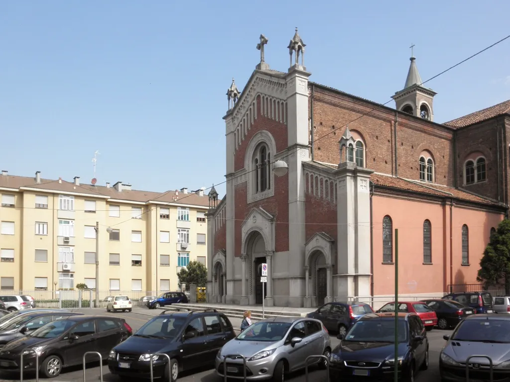
{"type": "MultiPolygon", "coordinates": [[[[61,318],[0,349],[0,371],[19,371],[21,353],[23,371],[35,370],[35,351],[40,372],[47,378],[56,377],[64,367],[82,365],[87,351],[98,351],[105,359],[112,347],[132,333],[123,318],[88,315],[61,318]]],[[[97,362],[97,358],[90,356],[87,361],[97,362]]]]}

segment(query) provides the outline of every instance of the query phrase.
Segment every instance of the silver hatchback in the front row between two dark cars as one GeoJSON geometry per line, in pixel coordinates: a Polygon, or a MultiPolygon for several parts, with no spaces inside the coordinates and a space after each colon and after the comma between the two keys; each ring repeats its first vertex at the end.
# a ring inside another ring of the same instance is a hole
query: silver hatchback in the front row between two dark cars
{"type": "MultiPolygon", "coordinates": [[[[248,380],[272,378],[284,380],[285,373],[305,367],[309,356],[329,357],[329,333],[319,320],[303,317],[275,317],[250,325],[233,340],[228,341],[216,355],[216,372],[224,377],[226,359],[228,378],[243,379],[243,356],[246,359],[248,380]]],[[[327,361],[317,358],[310,364],[326,366],[327,361]]]]}

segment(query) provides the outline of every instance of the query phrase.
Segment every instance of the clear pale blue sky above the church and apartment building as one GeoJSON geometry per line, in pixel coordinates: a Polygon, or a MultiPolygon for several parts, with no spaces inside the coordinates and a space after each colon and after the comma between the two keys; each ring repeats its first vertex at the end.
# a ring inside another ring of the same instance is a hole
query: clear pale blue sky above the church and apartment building
{"type": "MultiPolygon", "coordinates": [[[[295,26],[311,80],[384,103],[410,49],[423,80],[510,34],[510,2],[3,2],[0,167],[11,175],[164,191],[224,181],[226,89],[289,65],[295,26]],[[369,6],[367,6],[370,4],[369,6]]],[[[510,39],[430,81],[435,121],[510,98],[510,39]]],[[[393,106],[393,103],[390,103],[393,106]]],[[[218,187],[220,194],[224,186],[218,187]]]]}

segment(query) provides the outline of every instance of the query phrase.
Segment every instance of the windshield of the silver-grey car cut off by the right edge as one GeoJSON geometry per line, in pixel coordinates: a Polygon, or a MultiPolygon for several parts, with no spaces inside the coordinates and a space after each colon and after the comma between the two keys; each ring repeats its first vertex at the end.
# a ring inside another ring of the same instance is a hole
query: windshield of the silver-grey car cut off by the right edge
{"type": "Polygon", "coordinates": [[[464,320],[452,340],[510,343],[510,320],[464,320]]]}

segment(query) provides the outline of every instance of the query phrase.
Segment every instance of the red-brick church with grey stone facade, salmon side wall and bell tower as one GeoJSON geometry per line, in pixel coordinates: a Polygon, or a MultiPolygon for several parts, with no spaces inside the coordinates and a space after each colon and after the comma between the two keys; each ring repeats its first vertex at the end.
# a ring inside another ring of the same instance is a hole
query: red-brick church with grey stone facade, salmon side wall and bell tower
{"type": "Polygon", "coordinates": [[[389,301],[395,229],[401,297],[476,283],[507,213],[510,100],[437,123],[414,57],[392,108],[310,81],[297,29],[285,72],[266,63],[267,42],[242,92],[227,91],[208,301],[262,304],[263,288],[266,306],[389,301]]]}

